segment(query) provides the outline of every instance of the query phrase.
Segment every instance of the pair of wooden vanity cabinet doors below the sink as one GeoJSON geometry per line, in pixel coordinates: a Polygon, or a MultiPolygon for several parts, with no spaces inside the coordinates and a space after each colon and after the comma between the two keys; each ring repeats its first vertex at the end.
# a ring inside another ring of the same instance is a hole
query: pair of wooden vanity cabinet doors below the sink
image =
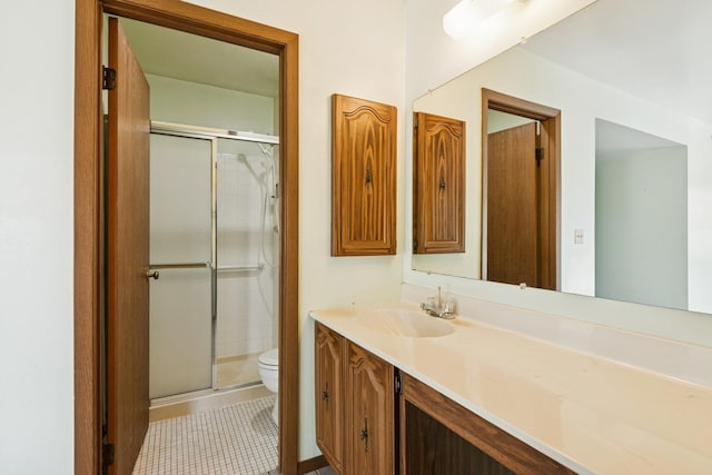
{"type": "Polygon", "coordinates": [[[395,473],[394,368],[316,324],[316,441],[342,475],[395,473]]]}

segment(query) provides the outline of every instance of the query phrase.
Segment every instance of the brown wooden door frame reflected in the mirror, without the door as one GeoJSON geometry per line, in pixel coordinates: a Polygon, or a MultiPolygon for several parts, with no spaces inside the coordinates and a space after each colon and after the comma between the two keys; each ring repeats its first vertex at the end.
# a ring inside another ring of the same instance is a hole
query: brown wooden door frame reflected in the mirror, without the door
{"type": "Polygon", "coordinates": [[[513,113],[530,119],[546,121],[542,125],[548,139],[548,150],[546,174],[546,189],[542,189],[540,198],[542,202],[543,224],[542,232],[545,235],[545,245],[542,254],[554,255],[555,259],[544,258],[548,263],[542,273],[546,276],[546,281],[555,283],[555,288],[561,288],[561,110],[536,102],[507,96],[491,89],[482,88],[482,246],[481,246],[481,271],[482,279],[487,279],[487,135],[488,119],[487,110],[494,109],[501,112],[513,113]]]}

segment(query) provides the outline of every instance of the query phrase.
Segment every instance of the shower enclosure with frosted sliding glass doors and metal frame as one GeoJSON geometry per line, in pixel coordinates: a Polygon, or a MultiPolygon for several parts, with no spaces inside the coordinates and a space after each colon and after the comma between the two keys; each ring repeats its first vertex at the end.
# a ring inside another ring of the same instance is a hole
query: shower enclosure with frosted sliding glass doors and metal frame
{"type": "Polygon", "coordinates": [[[151,123],[151,400],[259,383],[278,335],[278,144],[151,123]]]}

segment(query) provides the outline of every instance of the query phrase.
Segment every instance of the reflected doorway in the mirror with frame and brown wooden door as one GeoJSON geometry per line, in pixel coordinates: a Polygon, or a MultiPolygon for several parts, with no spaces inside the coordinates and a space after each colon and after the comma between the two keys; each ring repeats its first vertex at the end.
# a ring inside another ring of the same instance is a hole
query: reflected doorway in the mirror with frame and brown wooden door
{"type": "Polygon", "coordinates": [[[482,89],[482,278],[555,290],[561,111],[482,89]]]}

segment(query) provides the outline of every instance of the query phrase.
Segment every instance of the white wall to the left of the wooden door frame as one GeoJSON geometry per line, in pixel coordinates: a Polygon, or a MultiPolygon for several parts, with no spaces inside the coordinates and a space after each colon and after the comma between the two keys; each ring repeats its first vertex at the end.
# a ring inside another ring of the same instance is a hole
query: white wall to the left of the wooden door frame
{"type": "Polygon", "coordinates": [[[73,473],[73,1],[0,16],[0,472],[73,473]]]}

